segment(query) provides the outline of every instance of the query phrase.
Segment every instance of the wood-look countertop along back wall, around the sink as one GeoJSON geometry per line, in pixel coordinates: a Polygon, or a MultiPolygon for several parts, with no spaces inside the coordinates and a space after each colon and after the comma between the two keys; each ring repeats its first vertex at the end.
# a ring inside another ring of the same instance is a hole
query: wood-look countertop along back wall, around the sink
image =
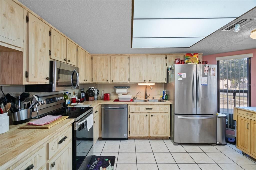
{"type": "MultiPolygon", "coordinates": [[[[90,107],[97,107],[101,104],[172,104],[172,102],[165,100],[165,102],[114,102],[113,99],[111,100],[93,100],[93,101],[84,101],[84,104],[90,104],[90,107]]],[[[76,107],[76,106],[69,106],[69,107],[76,107]]]]}

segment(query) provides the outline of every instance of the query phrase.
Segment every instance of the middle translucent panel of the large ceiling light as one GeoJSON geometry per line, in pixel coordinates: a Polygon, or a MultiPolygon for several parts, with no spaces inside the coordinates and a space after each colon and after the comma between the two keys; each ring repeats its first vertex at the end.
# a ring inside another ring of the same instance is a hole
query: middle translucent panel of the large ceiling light
{"type": "Polygon", "coordinates": [[[136,37],[207,37],[234,18],[133,20],[136,37]]]}

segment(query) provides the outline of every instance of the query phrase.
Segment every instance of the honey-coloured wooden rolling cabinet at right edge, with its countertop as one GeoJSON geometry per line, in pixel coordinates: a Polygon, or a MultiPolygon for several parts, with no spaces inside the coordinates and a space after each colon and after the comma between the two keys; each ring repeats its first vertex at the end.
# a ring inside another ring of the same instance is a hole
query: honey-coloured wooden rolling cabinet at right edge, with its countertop
{"type": "Polygon", "coordinates": [[[256,111],[253,107],[234,107],[237,121],[237,148],[256,159],[256,111]]]}

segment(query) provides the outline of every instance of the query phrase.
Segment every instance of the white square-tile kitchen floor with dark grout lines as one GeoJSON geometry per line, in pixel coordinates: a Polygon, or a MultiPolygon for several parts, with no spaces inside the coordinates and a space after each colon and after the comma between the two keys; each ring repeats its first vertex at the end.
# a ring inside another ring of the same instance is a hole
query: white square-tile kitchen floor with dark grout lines
{"type": "Polygon", "coordinates": [[[248,169],[256,170],[256,160],[235,145],[182,144],[169,139],[129,139],[126,141],[98,140],[94,155],[116,156],[116,170],[193,170],[248,169]]]}

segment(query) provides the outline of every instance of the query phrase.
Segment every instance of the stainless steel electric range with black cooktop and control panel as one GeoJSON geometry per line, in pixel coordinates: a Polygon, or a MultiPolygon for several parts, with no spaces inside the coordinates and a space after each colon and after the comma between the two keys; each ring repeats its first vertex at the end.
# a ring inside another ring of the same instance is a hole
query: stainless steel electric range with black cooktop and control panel
{"type": "MultiPolygon", "coordinates": [[[[93,155],[93,126],[88,130],[87,117],[93,114],[93,107],[64,107],[63,94],[40,96],[34,106],[32,118],[41,118],[46,115],[69,116],[74,119],[72,125],[72,152],[73,169],[86,169],[93,155]]],[[[54,127],[52,127],[54,128],[54,127]]]]}

